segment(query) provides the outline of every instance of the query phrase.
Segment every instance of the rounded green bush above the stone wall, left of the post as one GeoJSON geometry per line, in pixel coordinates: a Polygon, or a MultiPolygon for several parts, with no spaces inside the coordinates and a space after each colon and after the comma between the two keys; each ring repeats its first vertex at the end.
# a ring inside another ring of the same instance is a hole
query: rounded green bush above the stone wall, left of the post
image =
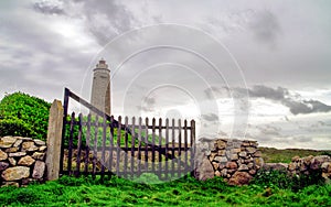
{"type": "Polygon", "coordinates": [[[45,140],[51,103],[23,92],[0,101],[0,137],[22,135],[45,140]]]}

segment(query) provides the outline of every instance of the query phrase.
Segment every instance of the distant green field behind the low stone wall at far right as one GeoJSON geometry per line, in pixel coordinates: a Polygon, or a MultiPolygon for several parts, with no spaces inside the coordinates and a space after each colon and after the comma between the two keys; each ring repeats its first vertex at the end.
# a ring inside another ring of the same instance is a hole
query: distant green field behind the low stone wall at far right
{"type": "Polygon", "coordinates": [[[261,152],[261,157],[266,163],[290,163],[293,156],[309,155],[331,155],[331,151],[303,150],[303,149],[286,149],[278,150],[275,148],[258,148],[261,152]]]}

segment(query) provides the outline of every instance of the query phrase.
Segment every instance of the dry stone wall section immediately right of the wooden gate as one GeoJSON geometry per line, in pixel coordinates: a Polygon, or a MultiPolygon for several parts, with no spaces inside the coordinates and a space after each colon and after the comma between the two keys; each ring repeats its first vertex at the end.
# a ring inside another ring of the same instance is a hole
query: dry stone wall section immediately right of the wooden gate
{"type": "Polygon", "coordinates": [[[222,176],[232,185],[248,184],[263,166],[257,142],[249,140],[201,139],[196,145],[195,177],[222,176]]]}

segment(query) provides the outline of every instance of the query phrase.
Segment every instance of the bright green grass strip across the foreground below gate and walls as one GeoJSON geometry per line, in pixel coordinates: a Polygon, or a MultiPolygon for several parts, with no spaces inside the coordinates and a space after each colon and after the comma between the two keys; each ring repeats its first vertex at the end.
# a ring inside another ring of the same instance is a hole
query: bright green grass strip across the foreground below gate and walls
{"type": "Polygon", "coordinates": [[[0,188],[1,206],[331,206],[331,185],[309,185],[296,193],[276,183],[228,186],[222,178],[192,177],[147,185],[111,177],[73,178],[23,188],[0,188]],[[267,184],[267,185],[265,185],[267,184]]]}

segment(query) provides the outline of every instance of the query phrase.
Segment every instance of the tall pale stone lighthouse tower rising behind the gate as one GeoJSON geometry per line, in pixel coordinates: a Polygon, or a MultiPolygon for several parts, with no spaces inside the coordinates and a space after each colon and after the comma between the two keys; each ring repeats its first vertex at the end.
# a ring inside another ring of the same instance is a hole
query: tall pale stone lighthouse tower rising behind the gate
{"type": "Polygon", "coordinates": [[[103,58],[93,69],[90,103],[105,113],[111,115],[110,69],[103,58]]]}

